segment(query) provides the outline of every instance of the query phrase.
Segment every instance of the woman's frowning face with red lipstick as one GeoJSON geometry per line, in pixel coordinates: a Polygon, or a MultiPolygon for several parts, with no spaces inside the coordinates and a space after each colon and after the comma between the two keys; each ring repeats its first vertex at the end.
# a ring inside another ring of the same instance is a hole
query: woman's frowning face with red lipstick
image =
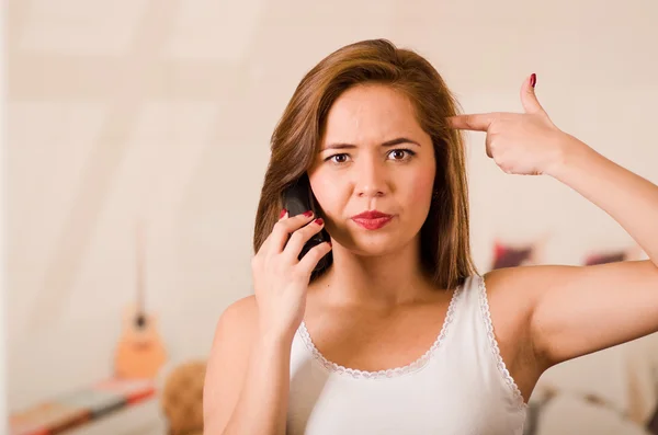
{"type": "Polygon", "coordinates": [[[308,175],[331,237],[361,255],[410,242],[428,216],[436,164],[409,99],[381,84],[351,88],[325,131],[308,175]],[[372,210],[388,217],[355,217],[372,210]]]}

